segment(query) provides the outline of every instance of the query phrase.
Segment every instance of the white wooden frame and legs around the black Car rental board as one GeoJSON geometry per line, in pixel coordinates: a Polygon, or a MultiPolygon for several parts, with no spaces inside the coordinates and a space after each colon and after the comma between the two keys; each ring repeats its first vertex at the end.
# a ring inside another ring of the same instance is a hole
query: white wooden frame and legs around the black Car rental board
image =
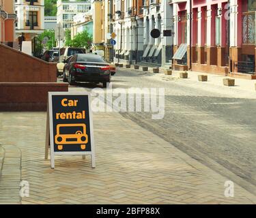
{"type": "Polygon", "coordinates": [[[83,155],[83,159],[85,155],[91,155],[91,168],[96,167],[95,163],[95,148],[94,148],[94,125],[93,118],[91,112],[91,95],[87,92],[48,92],[48,107],[47,107],[47,121],[46,121],[46,144],[45,144],[45,159],[48,159],[48,146],[50,145],[51,149],[51,168],[55,168],[55,160],[54,155],[83,155]],[[53,95],[87,95],[88,96],[88,108],[89,108],[89,123],[90,123],[90,139],[91,139],[91,151],[63,151],[63,152],[55,152],[54,151],[54,137],[53,137],[53,95]],[[51,134],[52,133],[52,134],[51,134]],[[49,141],[50,136],[50,141],[49,141]]]}

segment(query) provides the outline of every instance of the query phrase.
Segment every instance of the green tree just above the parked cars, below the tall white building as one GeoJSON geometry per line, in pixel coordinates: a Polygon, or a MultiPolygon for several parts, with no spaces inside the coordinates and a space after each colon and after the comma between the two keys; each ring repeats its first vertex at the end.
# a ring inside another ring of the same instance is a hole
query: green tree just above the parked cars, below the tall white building
{"type": "Polygon", "coordinates": [[[73,40],[71,40],[70,37],[70,30],[66,31],[66,46],[85,47],[88,49],[91,45],[91,41],[91,34],[89,34],[87,30],[84,30],[83,32],[75,35],[73,40]]]}

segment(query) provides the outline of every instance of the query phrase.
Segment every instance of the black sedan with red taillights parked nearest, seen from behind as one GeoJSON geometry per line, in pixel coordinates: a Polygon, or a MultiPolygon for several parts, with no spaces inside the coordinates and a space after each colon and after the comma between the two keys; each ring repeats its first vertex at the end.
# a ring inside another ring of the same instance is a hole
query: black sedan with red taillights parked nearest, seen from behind
{"type": "Polygon", "coordinates": [[[109,63],[100,55],[76,54],[65,61],[63,82],[102,82],[103,87],[111,81],[109,63]]]}

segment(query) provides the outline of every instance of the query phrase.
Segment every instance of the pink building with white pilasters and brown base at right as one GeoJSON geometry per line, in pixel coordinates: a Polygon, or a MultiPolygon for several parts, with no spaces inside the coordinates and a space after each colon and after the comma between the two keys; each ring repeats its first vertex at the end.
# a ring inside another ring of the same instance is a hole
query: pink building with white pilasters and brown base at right
{"type": "Polygon", "coordinates": [[[256,1],[190,1],[172,1],[174,53],[180,45],[187,46],[173,68],[256,78],[256,1]]]}

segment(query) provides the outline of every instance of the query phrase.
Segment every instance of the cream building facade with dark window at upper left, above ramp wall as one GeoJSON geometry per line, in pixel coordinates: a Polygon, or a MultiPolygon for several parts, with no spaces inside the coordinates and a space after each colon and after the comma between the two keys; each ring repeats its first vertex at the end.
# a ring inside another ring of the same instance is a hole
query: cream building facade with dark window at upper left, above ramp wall
{"type": "Polygon", "coordinates": [[[31,41],[44,32],[44,0],[16,0],[16,39],[24,33],[25,41],[31,41]]]}

